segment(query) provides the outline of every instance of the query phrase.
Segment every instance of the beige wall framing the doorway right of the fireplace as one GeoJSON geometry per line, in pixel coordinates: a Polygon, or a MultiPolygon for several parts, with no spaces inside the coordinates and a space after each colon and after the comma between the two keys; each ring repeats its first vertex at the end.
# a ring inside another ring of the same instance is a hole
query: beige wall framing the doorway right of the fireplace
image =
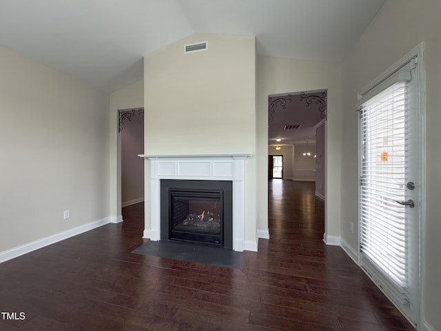
{"type": "Polygon", "coordinates": [[[258,57],[257,63],[257,192],[258,228],[268,223],[267,149],[268,95],[285,92],[327,89],[327,170],[329,185],[325,201],[326,232],[329,238],[340,236],[342,109],[341,68],[336,63],[258,57]]]}

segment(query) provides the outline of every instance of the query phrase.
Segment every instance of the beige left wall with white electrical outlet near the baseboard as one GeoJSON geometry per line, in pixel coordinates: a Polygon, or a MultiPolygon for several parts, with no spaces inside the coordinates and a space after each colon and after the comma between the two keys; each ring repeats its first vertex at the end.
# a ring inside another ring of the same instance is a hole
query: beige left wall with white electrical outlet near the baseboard
{"type": "Polygon", "coordinates": [[[0,252],[107,218],[108,94],[2,47],[0,72],[0,252]]]}

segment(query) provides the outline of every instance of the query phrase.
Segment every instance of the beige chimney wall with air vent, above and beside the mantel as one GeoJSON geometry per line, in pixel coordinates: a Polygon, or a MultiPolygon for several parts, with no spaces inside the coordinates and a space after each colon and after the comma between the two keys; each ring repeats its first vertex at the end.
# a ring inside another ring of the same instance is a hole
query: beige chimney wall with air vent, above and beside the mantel
{"type": "Polygon", "coordinates": [[[245,160],[245,240],[255,241],[254,37],[192,34],[147,55],[144,70],[145,154],[252,153],[245,160]],[[208,50],[183,53],[186,43],[201,41],[208,50]]]}

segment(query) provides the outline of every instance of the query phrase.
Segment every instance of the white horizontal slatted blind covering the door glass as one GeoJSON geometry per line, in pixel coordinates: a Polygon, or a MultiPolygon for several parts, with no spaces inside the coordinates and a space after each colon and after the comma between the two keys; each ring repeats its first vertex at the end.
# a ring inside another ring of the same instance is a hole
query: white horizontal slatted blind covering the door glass
{"type": "Polygon", "coordinates": [[[362,264],[401,303],[407,299],[407,83],[395,82],[360,107],[362,264]]]}

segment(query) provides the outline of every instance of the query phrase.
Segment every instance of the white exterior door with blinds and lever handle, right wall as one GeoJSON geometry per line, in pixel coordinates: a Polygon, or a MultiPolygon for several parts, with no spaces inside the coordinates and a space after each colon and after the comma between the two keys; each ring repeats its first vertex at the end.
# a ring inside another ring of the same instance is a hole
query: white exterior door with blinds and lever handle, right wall
{"type": "Polygon", "coordinates": [[[380,80],[360,106],[360,257],[415,324],[419,317],[422,192],[418,57],[380,80]]]}

